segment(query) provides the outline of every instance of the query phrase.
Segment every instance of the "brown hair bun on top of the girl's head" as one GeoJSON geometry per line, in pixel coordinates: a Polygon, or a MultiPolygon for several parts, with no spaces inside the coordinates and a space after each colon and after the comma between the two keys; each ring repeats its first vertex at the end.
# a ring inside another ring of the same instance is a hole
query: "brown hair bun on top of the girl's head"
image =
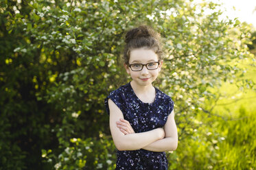
{"type": "Polygon", "coordinates": [[[130,31],[127,32],[126,34],[126,39],[124,40],[124,42],[128,43],[130,42],[130,40],[135,38],[148,38],[148,37],[154,37],[158,39],[153,29],[151,29],[146,25],[141,25],[134,29],[130,29],[130,31]]]}

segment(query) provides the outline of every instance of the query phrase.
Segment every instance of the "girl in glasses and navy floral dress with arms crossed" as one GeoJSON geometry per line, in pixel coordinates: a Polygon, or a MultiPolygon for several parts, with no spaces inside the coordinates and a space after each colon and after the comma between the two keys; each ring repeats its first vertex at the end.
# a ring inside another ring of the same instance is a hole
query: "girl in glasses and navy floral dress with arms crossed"
{"type": "Polygon", "coordinates": [[[174,102],[152,86],[163,64],[159,38],[148,26],[126,34],[124,66],[132,81],[105,99],[116,169],[167,169],[165,151],[178,145],[174,102]]]}

